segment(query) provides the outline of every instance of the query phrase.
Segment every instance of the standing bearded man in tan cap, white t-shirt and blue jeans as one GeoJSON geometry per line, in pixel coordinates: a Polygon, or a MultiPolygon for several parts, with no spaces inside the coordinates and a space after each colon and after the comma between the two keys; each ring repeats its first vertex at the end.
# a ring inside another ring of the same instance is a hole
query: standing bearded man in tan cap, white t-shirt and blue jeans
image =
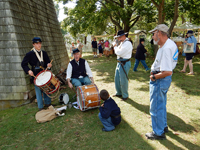
{"type": "Polygon", "coordinates": [[[154,33],[153,40],[160,48],[158,49],[154,63],[151,66],[150,75],[150,115],[153,132],[146,133],[148,139],[166,139],[167,126],[167,91],[172,81],[172,71],[178,61],[178,48],[168,38],[169,28],[165,24],[156,26],[149,31],[154,33]]]}

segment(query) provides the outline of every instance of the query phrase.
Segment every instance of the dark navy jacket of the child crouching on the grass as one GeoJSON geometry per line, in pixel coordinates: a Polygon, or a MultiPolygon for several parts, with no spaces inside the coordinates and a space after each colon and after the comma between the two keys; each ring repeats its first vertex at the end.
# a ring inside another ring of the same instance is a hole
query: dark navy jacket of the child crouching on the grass
{"type": "Polygon", "coordinates": [[[120,108],[111,97],[104,101],[104,107],[100,107],[99,110],[103,118],[111,117],[114,125],[118,125],[121,122],[121,116],[115,118],[121,113],[120,108]]]}

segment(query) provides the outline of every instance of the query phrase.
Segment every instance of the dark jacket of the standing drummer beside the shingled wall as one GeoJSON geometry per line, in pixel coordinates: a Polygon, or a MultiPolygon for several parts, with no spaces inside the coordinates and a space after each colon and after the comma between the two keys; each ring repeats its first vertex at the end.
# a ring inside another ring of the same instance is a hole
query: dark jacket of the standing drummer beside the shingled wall
{"type": "MultiPolygon", "coordinates": [[[[50,59],[45,51],[42,51],[42,52],[43,52],[43,60],[44,60],[43,67],[46,68],[47,64],[50,63],[50,59]]],[[[36,66],[39,67],[41,66],[41,64],[34,51],[30,51],[26,53],[26,56],[24,57],[21,63],[21,66],[26,74],[28,74],[29,70],[32,70],[34,75],[36,76],[40,71],[42,71],[42,69],[39,69],[39,70],[35,69],[36,66]],[[28,64],[31,65],[32,67],[31,69],[29,68],[28,64]]]]}

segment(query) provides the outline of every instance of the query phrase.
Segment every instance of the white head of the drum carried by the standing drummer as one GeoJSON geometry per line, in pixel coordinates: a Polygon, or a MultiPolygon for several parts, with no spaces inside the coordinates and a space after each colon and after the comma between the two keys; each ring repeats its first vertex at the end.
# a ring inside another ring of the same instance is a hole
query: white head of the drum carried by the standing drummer
{"type": "Polygon", "coordinates": [[[50,71],[42,71],[37,75],[37,78],[35,80],[35,85],[36,86],[42,86],[44,84],[46,84],[47,82],[50,81],[52,76],[52,73],[50,71]]]}

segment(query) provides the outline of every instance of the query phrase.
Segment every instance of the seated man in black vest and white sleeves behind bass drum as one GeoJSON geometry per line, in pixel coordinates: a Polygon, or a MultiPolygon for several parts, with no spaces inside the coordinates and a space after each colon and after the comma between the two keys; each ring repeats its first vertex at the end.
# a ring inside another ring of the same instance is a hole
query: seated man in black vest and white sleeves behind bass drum
{"type": "Polygon", "coordinates": [[[85,59],[80,58],[78,48],[73,50],[74,59],[70,61],[67,67],[67,82],[70,88],[94,84],[92,71],[85,59]],[[89,77],[88,77],[89,76],[89,77]],[[71,80],[71,82],[70,82],[71,80]]]}

